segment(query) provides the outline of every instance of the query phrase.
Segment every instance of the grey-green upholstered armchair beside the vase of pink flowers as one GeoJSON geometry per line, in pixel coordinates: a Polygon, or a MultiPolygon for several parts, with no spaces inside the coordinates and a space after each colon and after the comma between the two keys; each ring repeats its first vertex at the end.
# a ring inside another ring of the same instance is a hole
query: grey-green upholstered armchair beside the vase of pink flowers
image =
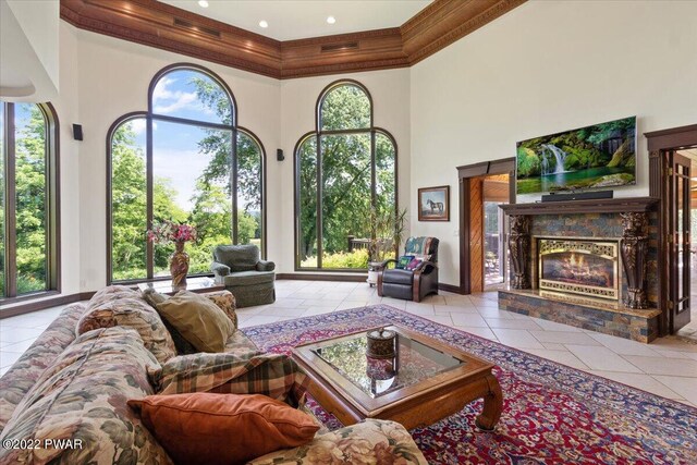
{"type": "Polygon", "coordinates": [[[210,269],[216,282],[223,284],[235,296],[237,307],[272,304],[276,301],[276,264],[259,259],[259,247],[256,245],[217,246],[210,269]]]}

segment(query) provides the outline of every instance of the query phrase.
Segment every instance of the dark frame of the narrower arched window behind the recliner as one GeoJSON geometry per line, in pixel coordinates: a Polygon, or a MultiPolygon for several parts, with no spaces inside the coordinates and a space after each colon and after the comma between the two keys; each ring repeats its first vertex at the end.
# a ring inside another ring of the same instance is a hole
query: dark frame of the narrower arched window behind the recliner
{"type": "Polygon", "coordinates": [[[396,145],[396,140],[394,136],[386,129],[376,126],[374,121],[374,103],[372,96],[362,83],[355,79],[342,78],[334,81],[327,85],[322,91],[319,94],[317,98],[317,102],[315,105],[315,131],[309,131],[303,134],[297,143],[295,143],[295,147],[293,148],[293,187],[294,187],[294,222],[295,227],[294,231],[294,257],[293,265],[295,271],[307,271],[307,272],[351,272],[351,273],[365,273],[366,269],[356,269],[356,268],[322,268],[322,253],[323,253],[323,232],[322,232],[322,157],[321,157],[321,137],[327,135],[351,135],[351,134],[369,134],[370,135],[370,204],[376,205],[377,193],[376,193],[376,135],[378,133],[384,135],[390,139],[392,146],[394,147],[394,212],[399,211],[399,149],[396,145]],[[370,125],[365,129],[350,129],[350,130],[322,130],[322,106],[327,96],[334,89],[342,86],[354,86],[359,88],[365,96],[368,98],[368,102],[370,103],[370,125]],[[317,211],[316,211],[316,221],[317,221],[317,267],[301,267],[301,255],[299,255],[299,238],[301,238],[301,160],[299,160],[299,149],[302,145],[309,139],[310,137],[315,137],[315,149],[317,156],[317,211]]]}

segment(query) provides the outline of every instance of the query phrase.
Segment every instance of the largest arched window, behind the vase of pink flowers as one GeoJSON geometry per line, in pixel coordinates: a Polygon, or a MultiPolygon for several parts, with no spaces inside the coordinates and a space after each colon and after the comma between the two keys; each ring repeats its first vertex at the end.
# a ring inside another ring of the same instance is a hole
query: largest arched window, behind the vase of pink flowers
{"type": "Polygon", "coordinates": [[[171,220],[196,227],[189,274],[207,274],[220,244],[265,255],[264,146],[236,124],[228,86],[200,66],[176,64],[152,79],[147,112],[112,125],[109,147],[109,282],[169,276],[172,244],[146,230],[171,220]]]}

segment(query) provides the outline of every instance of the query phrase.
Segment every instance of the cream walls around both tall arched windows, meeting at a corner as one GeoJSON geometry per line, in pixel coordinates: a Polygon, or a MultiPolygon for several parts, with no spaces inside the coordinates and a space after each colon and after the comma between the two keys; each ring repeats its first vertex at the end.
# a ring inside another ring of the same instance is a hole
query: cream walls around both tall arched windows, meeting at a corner
{"type": "Polygon", "coordinates": [[[71,255],[63,254],[64,282],[68,277],[76,280],[75,271],[80,276],[77,284],[73,281],[64,284],[65,291],[94,291],[106,284],[107,132],[119,117],[147,110],[147,90],[152,76],[176,62],[198,63],[217,73],[235,96],[239,124],[253,131],[266,148],[268,257],[277,262],[279,272],[293,272],[294,264],[293,148],[301,135],[315,129],[315,105],[327,84],[350,77],[368,88],[374,100],[375,124],[390,131],[396,139],[400,203],[408,206],[408,70],[280,82],[62,23],[61,65],[65,79],[62,79],[63,110],[59,109],[59,117],[65,133],[61,145],[66,154],[62,168],[74,173],[63,175],[63,218],[66,218],[63,237],[80,241],[77,250],[69,247],[71,255]],[[72,139],[72,123],[83,125],[83,142],[72,139]],[[283,149],[285,161],[276,160],[277,148],[283,149]]]}

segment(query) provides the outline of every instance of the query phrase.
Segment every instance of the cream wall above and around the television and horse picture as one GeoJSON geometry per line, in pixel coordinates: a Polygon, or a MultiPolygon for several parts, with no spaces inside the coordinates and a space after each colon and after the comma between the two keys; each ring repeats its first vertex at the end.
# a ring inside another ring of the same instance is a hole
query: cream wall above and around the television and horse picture
{"type": "MultiPolygon", "coordinates": [[[[637,185],[648,195],[647,131],[697,123],[697,2],[530,1],[411,69],[412,192],[451,185],[441,282],[460,280],[455,167],[515,156],[515,143],[637,115],[637,185]]],[[[529,199],[527,199],[529,201],[529,199]]],[[[416,210],[416,196],[412,195],[416,210]]]]}

